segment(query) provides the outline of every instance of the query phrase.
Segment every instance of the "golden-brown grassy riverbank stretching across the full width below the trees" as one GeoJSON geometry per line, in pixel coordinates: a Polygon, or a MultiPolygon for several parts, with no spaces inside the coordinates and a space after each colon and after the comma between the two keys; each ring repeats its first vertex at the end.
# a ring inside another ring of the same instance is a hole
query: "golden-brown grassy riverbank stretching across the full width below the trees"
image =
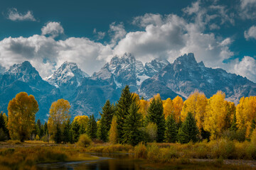
{"type": "Polygon", "coordinates": [[[255,169],[256,146],[250,142],[148,143],[111,145],[92,143],[90,147],[56,145],[41,141],[0,143],[0,169],[36,169],[36,164],[53,162],[97,161],[100,157],[142,160],[154,169],[255,169]],[[94,155],[94,156],[92,156],[94,155]]]}

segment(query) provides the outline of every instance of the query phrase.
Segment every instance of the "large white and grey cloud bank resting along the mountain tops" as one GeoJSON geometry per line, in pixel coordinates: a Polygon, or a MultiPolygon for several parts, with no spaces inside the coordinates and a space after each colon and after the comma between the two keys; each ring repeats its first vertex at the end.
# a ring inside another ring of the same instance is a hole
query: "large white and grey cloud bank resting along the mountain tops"
{"type": "MultiPolygon", "coordinates": [[[[113,55],[132,53],[137,60],[150,62],[162,57],[173,62],[184,53],[193,52],[198,62],[206,67],[223,68],[256,82],[256,62],[253,57],[232,60],[234,52],[230,45],[232,37],[222,37],[212,32],[223,26],[234,26],[235,16],[227,6],[213,2],[206,6],[196,1],[183,8],[183,15],[161,15],[145,13],[132,19],[139,31],[125,29],[124,23],[113,22],[107,32],[93,30],[96,40],[89,38],[67,38],[55,40],[64,34],[59,22],[49,22],[41,29],[41,35],[28,38],[5,38],[0,41],[0,62],[3,67],[28,60],[42,77],[52,74],[63,62],[76,62],[87,74],[97,72],[113,55]],[[97,42],[108,36],[109,42],[97,42]],[[223,62],[228,61],[228,62],[223,62]]],[[[254,1],[240,1],[240,8],[246,10],[254,1]]],[[[247,40],[256,39],[256,28],[245,30],[247,40]]]]}

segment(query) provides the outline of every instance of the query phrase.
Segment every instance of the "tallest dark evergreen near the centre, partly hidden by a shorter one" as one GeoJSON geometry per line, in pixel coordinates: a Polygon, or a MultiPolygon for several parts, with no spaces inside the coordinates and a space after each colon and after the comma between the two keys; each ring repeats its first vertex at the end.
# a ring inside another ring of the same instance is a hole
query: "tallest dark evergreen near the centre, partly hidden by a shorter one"
{"type": "Polygon", "coordinates": [[[119,143],[124,143],[124,120],[129,115],[129,107],[132,101],[132,93],[129,91],[129,86],[125,86],[122,89],[119,101],[117,101],[117,140],[119,143]]]}

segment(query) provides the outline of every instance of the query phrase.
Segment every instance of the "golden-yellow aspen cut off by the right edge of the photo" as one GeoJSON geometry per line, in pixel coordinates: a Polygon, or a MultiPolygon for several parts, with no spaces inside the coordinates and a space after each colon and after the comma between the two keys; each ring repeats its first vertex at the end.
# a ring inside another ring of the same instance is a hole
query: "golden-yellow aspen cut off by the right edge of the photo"
{"type": "Polygon", "coordinates": [[[240,98],[236,117],[238,129],[246,128],[246,137],[249,137],[252,120],[256,118],[256,96],[240,98]]]}

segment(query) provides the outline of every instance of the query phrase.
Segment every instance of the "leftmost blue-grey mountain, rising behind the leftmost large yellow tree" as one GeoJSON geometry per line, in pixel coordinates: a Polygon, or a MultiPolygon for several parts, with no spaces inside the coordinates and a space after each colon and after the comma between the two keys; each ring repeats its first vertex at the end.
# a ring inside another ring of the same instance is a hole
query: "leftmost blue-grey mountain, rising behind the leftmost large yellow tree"
{"type": "Polygon", "coordinates": [[[29,62],[14,64],[0,74],[0,110],[8,113],[9,101],[21,91],[32,94],[38,101],[36,118],[46,119],[50,105],[60,97],[60,91],[44,81],[29,62]]]}

